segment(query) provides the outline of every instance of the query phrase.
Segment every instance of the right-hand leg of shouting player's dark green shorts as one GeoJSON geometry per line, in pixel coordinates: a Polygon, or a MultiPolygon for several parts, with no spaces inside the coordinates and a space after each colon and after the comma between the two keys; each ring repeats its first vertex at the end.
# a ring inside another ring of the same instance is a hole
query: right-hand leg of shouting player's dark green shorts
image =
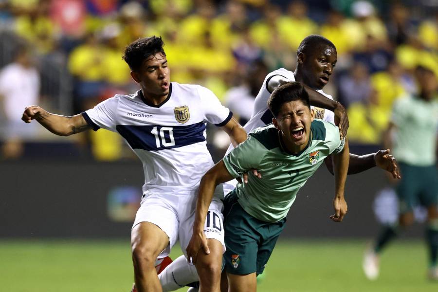
{"type": "Polygon", "coordinates": [[[280,221],[275,223],[269,223],[269,225],[265,225],[264,228],[260,229],[262,240],[258,245],[256,263],[257,275],[263,273],[263,270],[265,269],[265,266],[268,263],[272,252],[274,251],[274,247],[277,243],[278,237],[284,229],[285,223],[286,218],[281,219],[280,221]]]}

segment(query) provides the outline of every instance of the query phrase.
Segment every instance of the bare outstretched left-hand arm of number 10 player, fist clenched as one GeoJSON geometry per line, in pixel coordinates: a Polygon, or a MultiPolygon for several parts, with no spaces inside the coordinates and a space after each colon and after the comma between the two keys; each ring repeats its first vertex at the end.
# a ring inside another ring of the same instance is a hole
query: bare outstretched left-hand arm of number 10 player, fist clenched
{"type": "Polygon", "coordinates": [[[66,117],[50,113],[38,106],[27,107],[21,119],[25,123],[37,120],[44,128],[59,136],[70,136],[91,129],[82,114],[66,117]]]}

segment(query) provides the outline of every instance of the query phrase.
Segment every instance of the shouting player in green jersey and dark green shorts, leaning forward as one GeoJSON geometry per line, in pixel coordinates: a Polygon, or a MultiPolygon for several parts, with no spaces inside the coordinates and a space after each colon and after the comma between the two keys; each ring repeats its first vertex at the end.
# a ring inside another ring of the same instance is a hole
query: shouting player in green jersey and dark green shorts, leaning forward
{"type": "Polygon", "coordinates": [[[260,178],[249,176],[248,183],[238,184],[225,198],[224,226],[207,226],[225,229],[225,271],[232,292],[256,291],[256,274],[263,272],[271,256],[298,190],[330,154],[335,175],[335,214],[330,218],[339,222],[347,213],[344,187],[349,152],[339,129],[314,119],[309,95],[297,82],[278,87],[269,98],[268,107],[274,116],[273,124],[256,128],[203,176],[193,236],[187,247],[187,258],[193,262],[198,260],[199,252],[216,258],[212,270],[217,273],[211,278],[217,281],[222,255],[208,249],[203,235],[208,205],[216,185],[257,169],[260,178]]]}

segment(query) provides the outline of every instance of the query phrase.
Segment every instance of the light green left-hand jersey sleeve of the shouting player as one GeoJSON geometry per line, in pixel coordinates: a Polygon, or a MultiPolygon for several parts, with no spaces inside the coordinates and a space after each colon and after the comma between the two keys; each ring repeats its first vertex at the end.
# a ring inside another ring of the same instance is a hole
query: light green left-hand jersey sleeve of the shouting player
{"type": "Polygon", "coordinates": [[[250,135],[246,141],[228,153],[223,162],[230,175],[238,178],[250,169],[258,169],[264,153],[260,142],[250,135]]]}

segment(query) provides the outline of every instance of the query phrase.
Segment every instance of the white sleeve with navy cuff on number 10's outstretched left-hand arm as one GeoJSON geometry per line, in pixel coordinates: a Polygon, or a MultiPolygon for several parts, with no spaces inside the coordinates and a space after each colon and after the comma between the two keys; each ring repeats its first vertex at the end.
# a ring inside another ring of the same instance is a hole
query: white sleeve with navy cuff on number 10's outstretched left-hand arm
{"type": "Polygon", "coordinates": [[[110,131],[116,131],[116,112],[119,97],[116,95],[111,97],[90,110],[82,113],[82,116],[93,130],[104,128],[110,131]]]}

